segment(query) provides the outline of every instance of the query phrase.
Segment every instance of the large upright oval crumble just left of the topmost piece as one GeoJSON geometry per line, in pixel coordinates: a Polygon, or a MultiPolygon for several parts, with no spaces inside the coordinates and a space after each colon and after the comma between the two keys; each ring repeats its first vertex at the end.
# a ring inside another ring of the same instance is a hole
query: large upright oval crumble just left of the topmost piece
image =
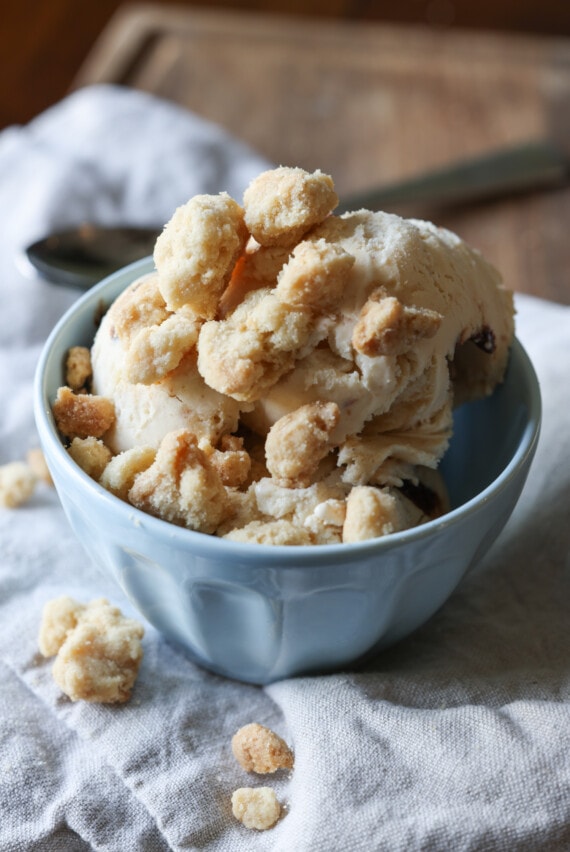
{"type": "Polygon", "coordinates": [[[211,319],[248,239],[243,210],[226,192],[196,195],[178,207],[154,249],[167,307],[189,305],[211,319]]]}

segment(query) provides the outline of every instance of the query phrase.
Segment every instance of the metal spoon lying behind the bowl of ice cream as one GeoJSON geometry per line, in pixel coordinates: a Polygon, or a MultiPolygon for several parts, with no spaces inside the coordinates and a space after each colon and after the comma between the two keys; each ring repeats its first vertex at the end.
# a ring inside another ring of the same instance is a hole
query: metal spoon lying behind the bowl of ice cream
{"type": "MultiPolygon", "coordinates": [[[[427,205],[467,204],[561,186],[569,177],[563,151],[541,140],[353,195],[341,201],[335,213],[361,207],[402,212],[412,206],[410,212],[418,215],[427,205]]],[[[162,227],[81,224],[38,240],[25,255],[46,281],[87,290],[111,272],[151,255],[162,227]]]]}

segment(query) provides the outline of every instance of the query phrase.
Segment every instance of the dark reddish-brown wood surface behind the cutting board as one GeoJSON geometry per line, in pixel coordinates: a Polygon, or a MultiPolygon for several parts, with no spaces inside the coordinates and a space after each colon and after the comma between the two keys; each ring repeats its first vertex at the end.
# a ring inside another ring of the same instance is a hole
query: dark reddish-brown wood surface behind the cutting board
{"type": "MultiPolygon", "coordinates": [[[[570,36],[567,0],[176,0],[314,18],[424,24],[570,36]]],[[[154,0],[160,8],[172,0],[154,0]]],[[[122,0],[8,0],[2,6],[0,128],[29,121],[62,98],[122,0]]]]}

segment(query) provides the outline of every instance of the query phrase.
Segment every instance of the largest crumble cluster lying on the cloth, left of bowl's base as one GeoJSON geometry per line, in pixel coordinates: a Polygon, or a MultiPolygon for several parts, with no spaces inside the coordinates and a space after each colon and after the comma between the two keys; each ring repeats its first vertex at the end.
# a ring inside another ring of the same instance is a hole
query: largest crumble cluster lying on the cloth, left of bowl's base
{"type": "Polygon", "coordinates": [[[44,607],[39,648],[55,657],[53,678],[72,701],[124,703],[143,657],[143,633],[105,598],[85,605],[63,596],[44,607]]]}

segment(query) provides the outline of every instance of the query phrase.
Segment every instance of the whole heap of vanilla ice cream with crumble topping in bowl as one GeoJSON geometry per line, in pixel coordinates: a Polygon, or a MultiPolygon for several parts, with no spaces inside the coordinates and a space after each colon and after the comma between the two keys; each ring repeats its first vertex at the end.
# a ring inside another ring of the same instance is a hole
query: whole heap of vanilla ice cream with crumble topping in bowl
{"type": "MultiPolygon", "coordinates": [[[[171,522],[271,544],[357,541],[445,511],[452,408],[502,380],[513,302],[451,232],[279,168],[197,196],[110,307],[98,478],[171,522]]],[[[77,453],[75,437],[75,458],[77,453]]],[[[80,450],[81,448],[79,448],[80,450]]]]}

